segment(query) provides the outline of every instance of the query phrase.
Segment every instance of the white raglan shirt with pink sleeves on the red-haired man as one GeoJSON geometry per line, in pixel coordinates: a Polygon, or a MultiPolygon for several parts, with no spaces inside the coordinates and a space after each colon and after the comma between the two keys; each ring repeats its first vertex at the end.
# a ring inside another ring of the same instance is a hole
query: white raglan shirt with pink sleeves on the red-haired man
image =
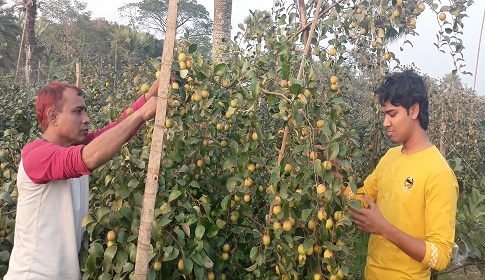
{"type": "MultiPolygon", "coordinates": [[[[143,104],[141,97],[131,108],[143,104]]],[[[80,145],[61,147],[37,139],[24,147],[17,174],[14,247],[5,280],[81,278],[78,253],[82,220],[88,214],[90,174],[81,150],[126,116],[89,133],[80,145]]]]}

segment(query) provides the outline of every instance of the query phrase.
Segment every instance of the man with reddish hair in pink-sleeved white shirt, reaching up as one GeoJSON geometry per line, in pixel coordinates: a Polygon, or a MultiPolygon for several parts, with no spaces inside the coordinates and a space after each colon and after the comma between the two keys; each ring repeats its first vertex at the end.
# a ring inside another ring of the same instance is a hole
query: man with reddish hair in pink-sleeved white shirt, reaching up
{"type": "Polygon", "coordinates": [[[89,132],[81,89],[53,82],[37,93],[42,139],[22,150],[15,237],[5,280],[80,279],[78,253],[88,214],[88,175],[154,117],[158,80],[118,122],[89,132]],[[131,110],[130,110],[131,111],[131,110]]]}

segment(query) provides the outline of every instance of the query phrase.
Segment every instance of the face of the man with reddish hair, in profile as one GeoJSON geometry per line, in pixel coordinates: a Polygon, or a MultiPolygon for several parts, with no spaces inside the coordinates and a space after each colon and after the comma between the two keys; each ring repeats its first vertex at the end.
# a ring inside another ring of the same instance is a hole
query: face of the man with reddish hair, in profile
{"type": "Polygon", "coordinates": [[[55,130],[61,146],[69,147],[84,141],[88,134],[89,117],[86,103],[74,89],[66,89],[62,94],[62,110],[57,112],[55,130]]]}

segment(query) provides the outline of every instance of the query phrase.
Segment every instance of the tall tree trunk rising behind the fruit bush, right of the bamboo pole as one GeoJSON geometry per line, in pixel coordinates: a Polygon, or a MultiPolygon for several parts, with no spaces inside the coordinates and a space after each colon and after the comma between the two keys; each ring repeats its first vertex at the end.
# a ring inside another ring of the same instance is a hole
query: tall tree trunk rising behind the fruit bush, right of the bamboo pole
{"type": "Polygon", "coordinates": [[[214,31],[212,33],[212,60],[214,64],[229,60],[226,51],[231,40],[232,0],[214,0],[214,31]]]}

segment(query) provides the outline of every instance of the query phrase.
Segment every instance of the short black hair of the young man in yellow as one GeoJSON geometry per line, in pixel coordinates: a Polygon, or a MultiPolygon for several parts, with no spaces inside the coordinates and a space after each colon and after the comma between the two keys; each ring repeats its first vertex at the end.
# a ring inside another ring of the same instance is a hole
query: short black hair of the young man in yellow
{"type": "Polygon", "coordinates": [[[424,130],[429,124],[428,90],[423,77],[413,70],[391,73],[376,89],[375,95],[381,106],[389,101],[394,106],[402,106],[409,114],[412,105],[419,104],[418,120],[424,130]]]}

